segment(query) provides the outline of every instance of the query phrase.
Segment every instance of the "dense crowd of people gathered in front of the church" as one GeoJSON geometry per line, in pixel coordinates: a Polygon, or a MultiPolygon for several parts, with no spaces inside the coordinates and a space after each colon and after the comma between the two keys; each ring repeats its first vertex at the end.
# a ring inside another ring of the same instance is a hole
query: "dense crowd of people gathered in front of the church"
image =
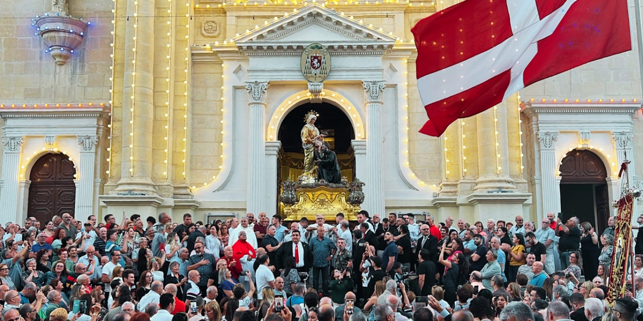
{"type": "Polygon", "coordinates": [[[357,218],[285,225],[248,213],[203,224],[161,213],[145,222],[123,214],[118,224],[111,214],[82,223],[64,213],[42,226],[7,223],[2,320],[631,321],[643,311],[638,248],[625,297],[604,304],[614,218],[601,236],[552,213],[540,228],[522,216],[486,227],[357,218]]]}

